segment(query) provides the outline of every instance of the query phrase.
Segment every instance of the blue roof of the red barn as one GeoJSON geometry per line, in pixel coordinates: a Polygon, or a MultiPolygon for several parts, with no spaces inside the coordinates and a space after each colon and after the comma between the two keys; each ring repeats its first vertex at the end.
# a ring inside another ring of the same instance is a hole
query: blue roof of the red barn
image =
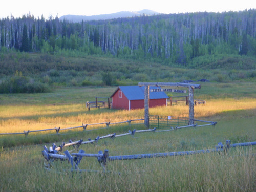
{"type": "MultiPolygon", "coordinates": [[[[127,97],[128,100],[142,100],[142,99],[144,100],[145,86],[141,86],[141,87],[140,86],[119,86],[119,89],[123,92],[123,94],[125,95],[125,97],[127,97]]],[[[161,89],[161,88],[150,87],[150,89],[161,89]]],[[[113,95],[115,94],[115,92],[113,93],[113,95]]],[[[150,99],[167,99],[167,98],[168,96],[165,94],[165,92],[150,92],[150,99]]]]}

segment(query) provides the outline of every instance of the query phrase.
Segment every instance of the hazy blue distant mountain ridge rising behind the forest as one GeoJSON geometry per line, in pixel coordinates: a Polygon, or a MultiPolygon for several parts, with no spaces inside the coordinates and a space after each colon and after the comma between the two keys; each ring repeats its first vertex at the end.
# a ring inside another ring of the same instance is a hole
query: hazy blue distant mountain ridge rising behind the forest
{"type": "Polygon", "coordinates": [[[83,21],[89,21],[89,20],[106,20],[106,19],[113,19],[113,18],[122,18],[122,17],[133,17],[133,16],[141,16],[141,15],[157,15],[160,14],[156,11],[143,9],[141,11],[121,11],[117,13],[111,13],[111,14],[102,14],[102,15],[92,15],[92,16],[86,16],[86,15],[63,15],[59,17],[60,20],[69,20],[70,22],[81,22],[83,21]]]}

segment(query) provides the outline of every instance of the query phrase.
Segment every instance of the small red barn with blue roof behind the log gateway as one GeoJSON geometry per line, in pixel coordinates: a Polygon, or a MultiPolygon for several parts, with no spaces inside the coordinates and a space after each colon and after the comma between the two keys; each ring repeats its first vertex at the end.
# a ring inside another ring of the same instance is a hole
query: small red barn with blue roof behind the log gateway
{"type": "MultiPolygon", "coordinates": [[[[144,89],[142,86],[119,86],[111,95],[112,109],[143,109],[144,89]]],[[[161,89],[150,87],[150,89],[161,89]]],[[[150,92],[150,107],[166,106],[168,96],[164,92],[150,92]]]]}

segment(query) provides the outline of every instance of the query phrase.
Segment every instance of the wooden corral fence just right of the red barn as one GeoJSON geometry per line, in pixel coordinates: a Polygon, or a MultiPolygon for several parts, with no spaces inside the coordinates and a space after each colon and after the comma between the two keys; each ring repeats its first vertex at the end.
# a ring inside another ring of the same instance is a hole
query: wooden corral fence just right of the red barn
{"type": "MultiPolygon", "coordinates": [[[[188,95],[186,96],[172,96],[167,99],[167,106],[173,105],[188,105],[188,95]]],[[[205,100],[194,99],[194,105],[206,104],[205,100]]]]}

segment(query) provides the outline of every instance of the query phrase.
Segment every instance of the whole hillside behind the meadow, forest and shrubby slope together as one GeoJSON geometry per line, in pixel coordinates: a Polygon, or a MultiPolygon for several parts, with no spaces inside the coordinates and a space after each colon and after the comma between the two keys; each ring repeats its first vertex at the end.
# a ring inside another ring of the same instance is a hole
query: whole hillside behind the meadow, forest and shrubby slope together
{"type": "Polygon", "coordinates": [[[0,93],[139,81],[255,81],[256,10],[73,23],[0,20],[0,93]]]}

